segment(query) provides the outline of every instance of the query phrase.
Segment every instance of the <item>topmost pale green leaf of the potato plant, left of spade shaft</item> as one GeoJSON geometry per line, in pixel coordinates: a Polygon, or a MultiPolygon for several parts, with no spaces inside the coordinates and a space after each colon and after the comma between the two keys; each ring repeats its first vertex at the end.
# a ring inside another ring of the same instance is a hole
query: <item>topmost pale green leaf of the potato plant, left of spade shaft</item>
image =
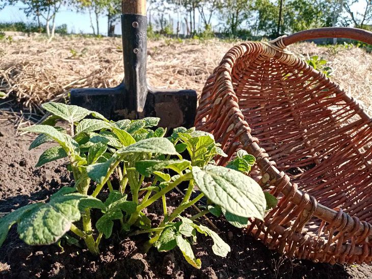
{"type": "Polygon", "coordinates": [[[62,103],[49,102],[42,105],[43,109],[67,120],[70,123],[78,122],[91,113],[90,110],[62,103]]]}

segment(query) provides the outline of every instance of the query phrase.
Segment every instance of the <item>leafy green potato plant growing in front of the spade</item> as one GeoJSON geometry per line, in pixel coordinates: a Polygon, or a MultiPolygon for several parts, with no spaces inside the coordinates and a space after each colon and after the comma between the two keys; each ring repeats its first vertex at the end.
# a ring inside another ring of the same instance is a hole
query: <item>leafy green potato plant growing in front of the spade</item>
{"type": "Polygon", "coordinates": [[[250,217],[264,217],[265,195],[244,174],[255,159],[244,150],[227,167],[216,166],[212,159],[226,155],[208,133],[181,127],[167,138],[166,129],[155,129],[160,120],[155,117],[114,122],[77,106],[46,103],[43,108],[51,116],[40,125],[23,129],[40,134],[30,149],[56,142],[43,152],[37,166],[67,158],[74,187],[63,187],[47,203],[30,204],[1,218],[0,245],[17,223],[19,237],[26,244],[52,244],[62,237],[71,239],[72,233],[97,254],[102,237],[109,238],[114,222],[118,222],[121,234],[148,234],[147,248],[168,251],[178,247],[188,263],[200,268],[200,259],[191,248],[197,234],[212,238],[212,250],[218,256],[225,257],[230,247],[198,222],[199,217],[209,212],[224,214],[237,227],[246,226],[250,217]],[[67,122],[66,129],[56,126],[61,120],[67,122]],[[115,187],[113,175],[119,180],[115,187]],[[181,183],[187,186],[184,197],[173,212],[168,212],[166,195],[181,183]],[[100,194],[102,191],[109,194],[100,194]],[[204,196],[208,205],[201,213],[191,218],[182,216],[204,196]],[[144,210],[157,200],[163,203],[164,219],[152,226],[144,210]],[[99,214],[94,224],[92,209],[99,214]]]}

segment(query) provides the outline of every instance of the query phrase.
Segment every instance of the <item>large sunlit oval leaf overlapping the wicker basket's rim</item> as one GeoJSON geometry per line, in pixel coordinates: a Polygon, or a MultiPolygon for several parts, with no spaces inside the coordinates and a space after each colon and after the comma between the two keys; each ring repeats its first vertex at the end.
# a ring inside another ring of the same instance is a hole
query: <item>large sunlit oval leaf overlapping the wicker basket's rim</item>
{"type": "Polygon", "coordinates": [[[264,218],[266,200],[261,187],[241,172],[221,166],[193,167],[196,185],[212,201],[238,216],[264,218]]]}

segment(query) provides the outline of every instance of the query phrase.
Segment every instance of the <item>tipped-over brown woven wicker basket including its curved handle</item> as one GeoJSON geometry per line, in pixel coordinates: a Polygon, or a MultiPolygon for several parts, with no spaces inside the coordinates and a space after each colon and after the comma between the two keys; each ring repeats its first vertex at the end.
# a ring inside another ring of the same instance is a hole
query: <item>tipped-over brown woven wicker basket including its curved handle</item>
{"type": "Polygon", "coordinates": [[[234,46],[208,78],[195,125],[228,158],[256,157],[251,175],[278,197],[245,229],[289,257],[334,263],[372,260],[372,121],[321,72],[286,51],[291,43],[372,33],[322,28],[269,43],[234,46]]]}

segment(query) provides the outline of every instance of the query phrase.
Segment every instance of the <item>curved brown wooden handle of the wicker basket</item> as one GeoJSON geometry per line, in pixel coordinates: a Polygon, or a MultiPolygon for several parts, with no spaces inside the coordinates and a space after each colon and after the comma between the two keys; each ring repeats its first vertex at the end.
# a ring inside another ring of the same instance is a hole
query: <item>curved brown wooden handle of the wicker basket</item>
{"type": "Polygon", "coordinates": [[[296,42],[319,38],[348,38],[372,44],[372,32],[349,27],[325,27],[310,29],[300,31],[286,37],[281,37],[281,40],[284,46],[288,46],[296,42]]]}

